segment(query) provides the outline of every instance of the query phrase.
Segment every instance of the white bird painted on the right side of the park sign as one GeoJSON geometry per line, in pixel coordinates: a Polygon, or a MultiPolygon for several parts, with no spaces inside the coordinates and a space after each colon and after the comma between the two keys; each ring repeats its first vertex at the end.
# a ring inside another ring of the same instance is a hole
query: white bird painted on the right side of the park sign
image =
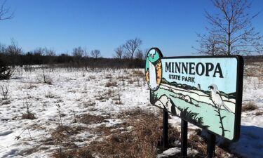
{"type": "Polygon", "coordinates": [[[224,104],[222,97],[220,96],[220,91],[218,91],[218,89],[217,89],[217,85],[211,84],[210,86],[208,86],[208,88],[211,91],[211,98],[212,98],[212,101],[215,104],[215,106],[218,109],[220,109],[221,107],[224,107],[224,109],[231,112],[229,107],[227,107],[227,105],[224,104]]]}

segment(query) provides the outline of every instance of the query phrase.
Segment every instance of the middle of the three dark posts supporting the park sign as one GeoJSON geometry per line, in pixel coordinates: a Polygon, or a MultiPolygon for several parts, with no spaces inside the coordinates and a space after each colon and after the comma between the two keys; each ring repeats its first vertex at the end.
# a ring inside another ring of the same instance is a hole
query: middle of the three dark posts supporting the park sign
{"type": "Polygon", "coordinates": [[[181,119],[181,154],[187,157],[187,128],[188,122],[181,119]]]}

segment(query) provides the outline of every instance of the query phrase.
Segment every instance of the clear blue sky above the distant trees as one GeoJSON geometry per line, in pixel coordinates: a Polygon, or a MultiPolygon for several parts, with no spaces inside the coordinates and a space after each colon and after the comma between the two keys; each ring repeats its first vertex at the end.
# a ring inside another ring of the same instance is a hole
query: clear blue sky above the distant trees
{"type": "MultiPolygon", "coordinates": [[[[1,2],[3,0],[0,0],[1,2]]],[[[210,0],[8,0],[15,16],[0,21],[0,43],[18,41],[23,51],[37,47],[72,53],[72,48],[99,49],[112,57],[127,39],[142,39],[142,50],[159,47],[165,56],[193,55],[196,32],[208,25],[210,0]]],[[[252,24],[263,34],[263,1],[254,0],[250,13],[262,13],[252,24]]]]}

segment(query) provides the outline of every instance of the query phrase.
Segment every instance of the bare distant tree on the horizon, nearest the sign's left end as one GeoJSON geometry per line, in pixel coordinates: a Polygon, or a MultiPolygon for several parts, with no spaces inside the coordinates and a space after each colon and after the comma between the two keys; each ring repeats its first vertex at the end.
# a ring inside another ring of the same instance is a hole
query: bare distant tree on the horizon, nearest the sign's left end
{"type": "Polygon", "coordinates": [[[126,48],[126,55],[133,59],[133,55],[138,47],[142,45],[142,40],[135,38],[135,39],[129,39],[126,41],[126,44],[123,45],[124,48],[126,48]]]}

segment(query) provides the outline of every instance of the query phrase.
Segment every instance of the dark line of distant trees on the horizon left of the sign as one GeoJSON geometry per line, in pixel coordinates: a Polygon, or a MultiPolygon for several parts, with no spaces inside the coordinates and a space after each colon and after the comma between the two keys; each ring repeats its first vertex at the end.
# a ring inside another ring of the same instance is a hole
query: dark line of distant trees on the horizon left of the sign
{"type": "MultiPolygon", "coordinates": [[[[139,68],[144,67],[144,59],[140,58],[102,58],[100,50],[92,50],[90,53],[81,46],[72,49],[72,55],[62,53],[57,55],[50,48],[36,48],[34,51],[24,53],[22,48],[14,40],[9,46],[0,44],[0,60],[7,66],[17,65],[54,65],[60,64],[71,67],[116,67],[139,68]]],[[[143,56],[143,55],[142,55],[143,56]]]]}

